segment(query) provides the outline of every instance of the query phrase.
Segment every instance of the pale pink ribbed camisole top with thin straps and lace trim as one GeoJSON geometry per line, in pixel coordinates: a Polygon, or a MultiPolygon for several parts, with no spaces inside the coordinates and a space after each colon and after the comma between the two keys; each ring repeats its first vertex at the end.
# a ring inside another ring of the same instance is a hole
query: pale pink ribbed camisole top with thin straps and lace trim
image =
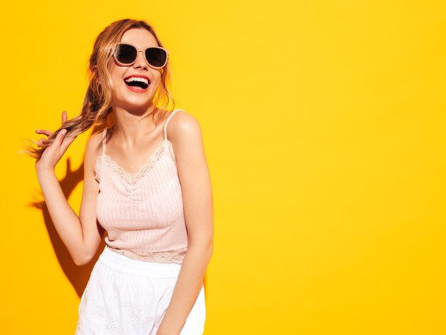
{"type": "Polygon", "coordinates": [[[108,128],[103,130],[103,151],[95,165],[96,216],[110,250],[133,259],[182,264],[187,251],[177,162],[166,132],[175,112],[167,118],[160,147],[134,175],[105,154],[108,128]]]}

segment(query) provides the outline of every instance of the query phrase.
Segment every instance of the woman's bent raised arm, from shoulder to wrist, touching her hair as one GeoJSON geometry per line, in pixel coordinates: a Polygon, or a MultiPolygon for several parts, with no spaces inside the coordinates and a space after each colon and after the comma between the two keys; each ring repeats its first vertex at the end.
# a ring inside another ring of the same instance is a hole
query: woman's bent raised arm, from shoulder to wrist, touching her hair
{"type": "MultiPolygon", "coordinates": [[[[36,164],[38,182],[41,185],[51,220],[77,265],[87,264],[93,259],[104,232],[96,219],[96,199],[99,187],[95,180],[94,168],[100,144],[99,135],[90,136],[85,148],[84,184],[79,216],[68,204],[54,169],[47,168],[43,164],[36,164]]],[[[53,145],[57,143],[51,146],[53,145]]]]}

